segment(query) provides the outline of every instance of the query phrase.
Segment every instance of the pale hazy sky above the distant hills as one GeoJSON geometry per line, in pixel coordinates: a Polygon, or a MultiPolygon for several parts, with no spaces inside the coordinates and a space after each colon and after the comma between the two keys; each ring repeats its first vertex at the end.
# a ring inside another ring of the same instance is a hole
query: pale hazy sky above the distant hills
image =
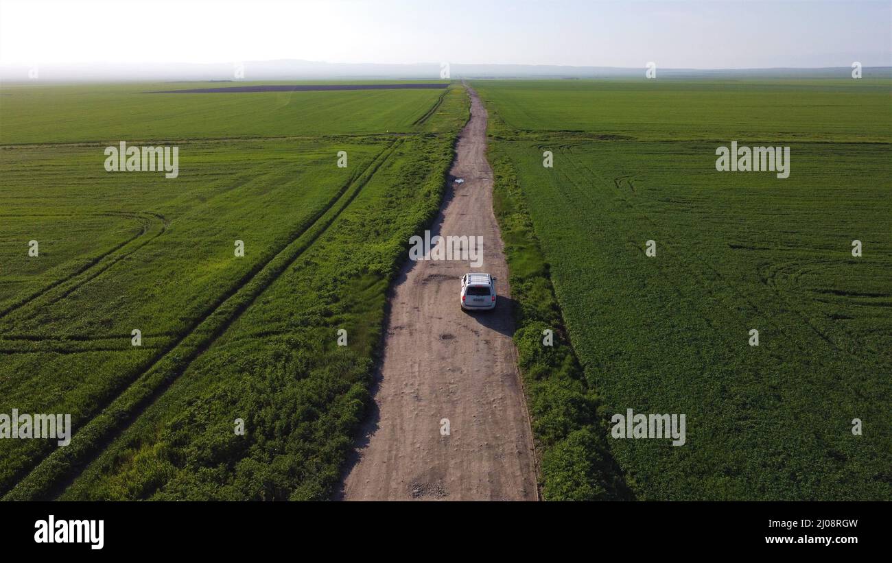
{"type": "Polygon", "coordinates": [[[892,0],[0,0],[0,64],[892,65],[892,0]]]}

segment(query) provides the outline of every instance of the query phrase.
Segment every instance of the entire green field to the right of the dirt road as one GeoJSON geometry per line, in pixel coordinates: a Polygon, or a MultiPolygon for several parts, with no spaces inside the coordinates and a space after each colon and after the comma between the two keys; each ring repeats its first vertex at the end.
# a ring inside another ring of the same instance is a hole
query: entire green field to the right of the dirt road
{"type": "Polygon", "coordinates": [[[892,82],[473,86],[547,498],[892,499],[892,82]],[[789,178],[716,171],[731,141],[789,178]],[[609,437],[628,408],[686,445],[609,437]]]}

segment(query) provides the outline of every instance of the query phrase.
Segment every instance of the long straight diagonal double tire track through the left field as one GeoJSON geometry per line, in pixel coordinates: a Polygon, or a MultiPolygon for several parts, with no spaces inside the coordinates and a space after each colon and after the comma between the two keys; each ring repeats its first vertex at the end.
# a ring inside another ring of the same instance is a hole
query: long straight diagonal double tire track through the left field
{"type": "Polygon", "coordinates": [[[136,377],[128,378],[131,383],[101,412],[79,425],[69,445],[54,449],[42,461],[31,463],[18,472],[11,479],[15,485],[0,500],[45,500],[62,494],[83,469],[95,461],[295,260],[310,249],[313,242],[326,233],[401,143],[401,139],[393,140],[366,167],[351,175],[331,203],[301,224],[291,241],[267,262],[246,273],[209,313],[196,319],[182,337],[155,355],[136,377]],[[302,241],[304,238],[307,240],[302,241]]]}

